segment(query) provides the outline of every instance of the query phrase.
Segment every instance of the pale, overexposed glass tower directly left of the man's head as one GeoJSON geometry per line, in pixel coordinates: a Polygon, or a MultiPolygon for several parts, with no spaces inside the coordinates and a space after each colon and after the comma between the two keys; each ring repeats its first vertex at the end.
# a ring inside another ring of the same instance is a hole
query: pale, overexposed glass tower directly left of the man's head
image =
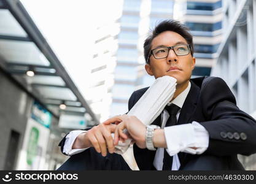
{"type": "Polygon", "coordinates": [[[133,91],[153,83],[154,78],[144,69],[144,40],[159,21],[173,18],[173,6],[174,1],[169,0],[123,1],[111,115],[127,112],[133,91]]]}

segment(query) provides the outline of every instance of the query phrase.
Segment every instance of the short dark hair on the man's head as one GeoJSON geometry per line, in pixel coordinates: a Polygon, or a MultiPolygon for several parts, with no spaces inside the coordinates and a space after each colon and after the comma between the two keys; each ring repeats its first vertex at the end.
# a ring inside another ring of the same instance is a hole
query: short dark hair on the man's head
{"type": "Polygon", "coordinates": [[[182,25],[179,21],[176,20],[163,20],[155,28],[152,33],[145,39],[144,42],[144,58],[145,62],[148,63],[147,59],[150,54],[152,40],[158,36],[158,34],[163,33],[164,31],[173,31],[180,34],[184,39],[190,44],[191,55],[193,56],[193,37],[188,32],[189,29],[187,26],[182,25]]]}

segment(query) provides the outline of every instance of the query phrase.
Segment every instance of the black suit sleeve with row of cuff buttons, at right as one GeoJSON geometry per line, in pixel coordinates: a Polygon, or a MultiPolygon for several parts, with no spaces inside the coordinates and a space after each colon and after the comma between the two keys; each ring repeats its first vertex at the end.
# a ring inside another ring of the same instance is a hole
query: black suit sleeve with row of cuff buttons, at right
{"type": "Polygon", "coordinates": [[[209,132],[210,155],[251,155],[256,152],[256,121],[236,106],[235,96],[220,78],[202,86],[203,115],[200,122],[209,132]]]}

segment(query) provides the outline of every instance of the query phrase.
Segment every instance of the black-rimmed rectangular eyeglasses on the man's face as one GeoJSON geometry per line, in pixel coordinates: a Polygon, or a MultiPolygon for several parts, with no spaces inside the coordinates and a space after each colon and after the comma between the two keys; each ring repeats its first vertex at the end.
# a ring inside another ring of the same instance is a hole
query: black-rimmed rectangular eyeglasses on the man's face
{"type": "Polygon", "coordinates": [[[149,63],[149,58],[151,55],[153,55],[155,59],[167,58],[169,51],[171,49],[174,51],[174,53],[177,56],[188,55],[190,53],[190,50],[192,50],[190,44],[180,44],[180,45],[174,45],[172,47],[154,48],[150,50],[149,57],[147,58],[147,63],[149,63]]]}

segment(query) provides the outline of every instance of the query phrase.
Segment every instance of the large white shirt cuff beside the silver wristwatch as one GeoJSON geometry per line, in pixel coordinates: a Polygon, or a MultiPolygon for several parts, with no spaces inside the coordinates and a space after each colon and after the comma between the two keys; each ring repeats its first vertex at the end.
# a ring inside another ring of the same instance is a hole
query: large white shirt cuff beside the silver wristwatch
{"type": "Polygon", "coordinates": [[[180,151],[190,154],[202,154],[209,145],[209,133],[206,129],[193,121],[184,125],[175,125],[164,128],[167,148],[170,156],[180,151]],[[192,147],[196,147],[194,150],[192,147]]]}

